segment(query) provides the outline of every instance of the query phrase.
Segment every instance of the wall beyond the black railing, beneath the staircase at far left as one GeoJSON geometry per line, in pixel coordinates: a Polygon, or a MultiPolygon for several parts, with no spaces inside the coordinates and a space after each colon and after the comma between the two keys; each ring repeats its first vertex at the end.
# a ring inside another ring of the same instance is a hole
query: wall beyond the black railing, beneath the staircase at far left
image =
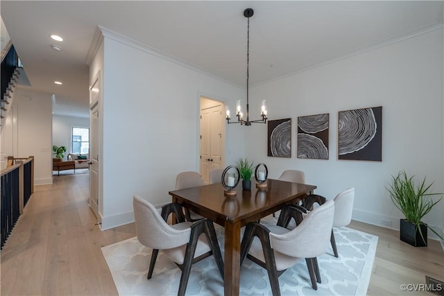
{"type": "Polygon", "coordinates": [[[1,132],[1,155],[34,159],[34,184],[52,183],[51,94],[17,87],[1,132]]]}

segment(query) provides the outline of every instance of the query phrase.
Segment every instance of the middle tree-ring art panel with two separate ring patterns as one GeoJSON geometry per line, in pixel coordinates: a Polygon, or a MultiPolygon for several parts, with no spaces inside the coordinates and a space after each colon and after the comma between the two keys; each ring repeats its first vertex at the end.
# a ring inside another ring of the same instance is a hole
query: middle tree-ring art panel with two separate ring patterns
{"type": "Polygon", "coordinates": [[[298,117],[298,158],[328,159],[328,113],[298,117]]]}

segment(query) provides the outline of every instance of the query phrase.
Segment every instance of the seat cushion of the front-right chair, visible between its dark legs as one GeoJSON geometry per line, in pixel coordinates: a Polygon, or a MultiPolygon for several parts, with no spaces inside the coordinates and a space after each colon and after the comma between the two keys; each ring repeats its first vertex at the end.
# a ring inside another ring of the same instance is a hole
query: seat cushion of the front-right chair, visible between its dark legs
{"type": "MultiPolygon", "coordinates": [[[[267,225],[267,228],[270,229],[270,231],[274,234],[286,234],[290,231],[289,229],[285,229],[284,227],[275,225],[267,225]]],[[[273,250],[273,252],[275,254],[276,270],[286,270],[287,268],[295,265],[300,260],[300,258],[298,257],[287,256],[286,254],[282,254],[275,250],[273,250]]],[[[253,239],[248,254],[256,257],[262,262],[265,262],[264,252],[262,250],[262,244],[259,241],[259,238],[255,237],[253,239]]]]}

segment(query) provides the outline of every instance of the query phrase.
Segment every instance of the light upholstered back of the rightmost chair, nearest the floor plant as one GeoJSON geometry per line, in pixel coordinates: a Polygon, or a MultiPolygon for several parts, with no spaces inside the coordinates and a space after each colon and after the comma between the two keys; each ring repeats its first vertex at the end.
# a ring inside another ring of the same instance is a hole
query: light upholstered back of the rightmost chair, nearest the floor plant
{"type": "Polygon", "coordinates": [[[334,198],[334,227],[347,226],[352,220],[355,188],[351,187],[338,193],[334,198]]]}

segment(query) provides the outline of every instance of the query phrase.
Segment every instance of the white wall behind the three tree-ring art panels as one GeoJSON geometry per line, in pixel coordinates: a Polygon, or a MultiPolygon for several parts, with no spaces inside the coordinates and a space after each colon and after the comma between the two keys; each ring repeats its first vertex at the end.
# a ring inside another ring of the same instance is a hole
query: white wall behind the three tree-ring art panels
{"type": "MultiPolygon", "coordinates": [[[[254,75],[254,73],[251,73],[254,75]]],[[[296,73],[250,89],[250,110],[267,100],[271,119],[292,119],[291,158],[267,157],[266,128],[246,133],[246,155],[265,162],[271,177],[284,169],[305,171],[316,193],[334,198],[354,186],[353,218],[399,229],[402,217],[384,186],[406,170],[444,192],[443,29],[296,73]],[[337,159],[338,112],[382,106],[382,162],[337,159]],[[296,158],[298,116],[330,113],[330,159],[296,158]]],[[[425,218],[442,227],[444,200],[425,218]]]]}

